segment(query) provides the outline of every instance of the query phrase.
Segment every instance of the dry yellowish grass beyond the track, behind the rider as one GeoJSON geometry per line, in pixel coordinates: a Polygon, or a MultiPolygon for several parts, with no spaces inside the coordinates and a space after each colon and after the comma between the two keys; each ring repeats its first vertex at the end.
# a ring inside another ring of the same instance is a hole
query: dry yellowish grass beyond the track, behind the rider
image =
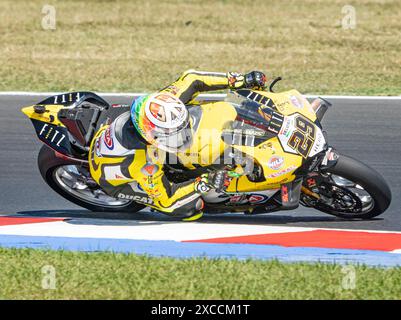
{"type": "Polygon", "coordinates": [[[0,2],[0,90],[151,91],[264,70],[303,93],[401,94],[399,0],[0,2]],[[44,4],[56,30],[43,30],[44,4]],[[356,28],[343,29],[344,5],[356,28]]]}

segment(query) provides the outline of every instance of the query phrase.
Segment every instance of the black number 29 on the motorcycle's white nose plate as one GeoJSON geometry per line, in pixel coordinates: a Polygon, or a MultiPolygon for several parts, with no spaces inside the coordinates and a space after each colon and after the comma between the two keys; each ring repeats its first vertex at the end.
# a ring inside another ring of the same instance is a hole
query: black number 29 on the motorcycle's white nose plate
{"type": "Polygon", "coordinates": [[[295,118],[296,130],[288,140],[288,146],[307,158],[315,141],[315,126],[308,119],[298,116],[295,118]]]}

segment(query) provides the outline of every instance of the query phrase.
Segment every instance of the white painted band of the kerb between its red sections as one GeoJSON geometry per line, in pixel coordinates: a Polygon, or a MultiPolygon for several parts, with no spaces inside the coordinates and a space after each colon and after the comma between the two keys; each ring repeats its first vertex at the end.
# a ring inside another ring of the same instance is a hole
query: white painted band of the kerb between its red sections
{"type": "MultiPolygon", "coordinates": [[[[317,230],[400,234],[400,232],[377,230],[220,223],[205,224],[199,222],[190,224],[176,222],[154,224],[147,221],[138,221],[136,225],[113,225],[114,221],[108,220],[104,220],[102,224],[94,224],[95,220],[91,219],[78,220],[80,223],[75,223],[74,221],[76,222],[76,220],[72,219],[71,221],[4,225],[0,226],[0,235],[185,241],[317,230]]],[[[401,252],[396,251],[394,253],[401,252]]]]}

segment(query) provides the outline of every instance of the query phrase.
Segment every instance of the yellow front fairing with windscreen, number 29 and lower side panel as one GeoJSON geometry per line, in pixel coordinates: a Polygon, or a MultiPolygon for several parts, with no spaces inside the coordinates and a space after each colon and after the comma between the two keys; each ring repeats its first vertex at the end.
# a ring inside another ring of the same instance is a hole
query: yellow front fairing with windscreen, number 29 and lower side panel
{"type": "Polygon", "coordinates": [[[255,139],[254,145],[235,145],[256,160],[265,178],[264,182],[251,183],[243,176],[236,182],[238,189],[273,188],[292,181],[294,172],[305,161],[326,148],[314,110],[296,90],[282,93],[239,90],[230,93],[226,101],[237,111],[237,124],[246,123],[265,136],[255,139]]]}

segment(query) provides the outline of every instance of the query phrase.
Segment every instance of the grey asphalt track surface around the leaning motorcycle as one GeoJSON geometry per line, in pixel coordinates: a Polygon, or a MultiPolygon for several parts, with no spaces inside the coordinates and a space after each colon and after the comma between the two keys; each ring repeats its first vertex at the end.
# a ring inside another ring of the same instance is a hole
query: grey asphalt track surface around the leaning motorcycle
{"type": "MultiPolygon", "coordinates": [[[[93,213],[64,200],[42,180],[36,164],[41,142],[21,107],[39,102],[38,96],[0,96],[0,214],[70,217],[105,225],[131,225],[138,220],[172,221],[158,213],[93,213]]],[[[107,97],[129,103],[130,97],[107,97]]],[[[202,223],[258,224],[313,228],[401,231],[401,99],[332,99],[323,121],[329,143],[379,171],[390,184],[393,201],[381,216],[347,221],[313,209],[299,208],[255,216],[207,215],[202,223]]]]}

